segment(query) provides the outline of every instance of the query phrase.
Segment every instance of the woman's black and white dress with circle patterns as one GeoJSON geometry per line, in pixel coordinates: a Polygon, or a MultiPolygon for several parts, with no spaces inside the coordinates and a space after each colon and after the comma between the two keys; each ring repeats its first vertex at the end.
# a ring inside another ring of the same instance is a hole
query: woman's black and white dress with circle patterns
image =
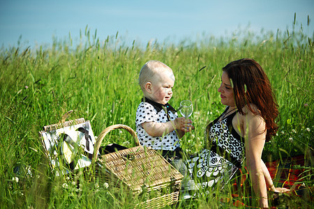
{"type": "MultiPolygon", "coordinates": [[[[229,108],[225,109],[227,112],[229,108]]],[[[244,138],[232,127],[233,114],[218,121],[217,118],[209,123],[205,132],[205,139],[209,149],[204,148],[199,154],[188,160],[190,178],[186,189],[207,189],[216,184],[223,187],[224,183],[232,178],[234,173],[241,168],[245,158],[244,138]]]]}

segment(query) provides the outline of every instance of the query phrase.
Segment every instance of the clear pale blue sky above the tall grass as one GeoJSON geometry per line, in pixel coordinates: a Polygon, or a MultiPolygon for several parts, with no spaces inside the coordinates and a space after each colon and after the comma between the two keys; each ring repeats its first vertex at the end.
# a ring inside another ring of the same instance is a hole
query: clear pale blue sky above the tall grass
{"type": "Polygon", "coordinates": [[[80,36],[86,26],[100,41],[119,31],[133,40],[195,38],[202,33],[226,36],[249,25],[251,31],[292,29],[294,13],[310,36],[314,29],[313,0],[264,1],[80,1],[0,0],[0,47],[51,44],[52,37],[80,36]],[[307,27],[307,17],[312,20],[307,27]]]}

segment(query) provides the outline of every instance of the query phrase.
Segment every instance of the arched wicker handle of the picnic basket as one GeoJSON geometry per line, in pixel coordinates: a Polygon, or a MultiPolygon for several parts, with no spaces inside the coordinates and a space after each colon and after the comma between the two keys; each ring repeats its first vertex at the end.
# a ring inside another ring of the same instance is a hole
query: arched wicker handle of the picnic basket
{"type": "Polygon", "coordinates": [[[101,142],[103,141],[103,138],[105,138],[105,135],[107,133],[109,133],[110,131],[112,130],[115,130],[115,129],[118,129],[118,128],[121,128],[121,129],[124,129],[124,130],[127,130],[133,137],[134,141],[135,141],[135,145],[136,146],[139,146],[140,145],[140,141],[138,140],[137,138],[137,135],[135,133],[135,131],[129,127],[128,125],[123,125],[123,124],[116,124],[116,125],[110,125],[109,127],[106,127],[105,130],[103,130],[98,138],[97,138],[97,141],[95,143],[95,147],[94,147],[94,159],[96,160],[96,157],[98,155],[98,151],[99,151],[99,148],[100,148],[100,145],[101,145],[101,142]]]}

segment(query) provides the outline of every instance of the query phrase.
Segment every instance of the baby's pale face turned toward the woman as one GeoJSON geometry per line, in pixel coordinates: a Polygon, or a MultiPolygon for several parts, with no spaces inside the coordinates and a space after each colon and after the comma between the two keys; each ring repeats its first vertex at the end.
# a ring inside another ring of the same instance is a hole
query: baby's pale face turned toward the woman
{"type": "Polygon", "coordinates": [[[151,100],[160,104],[166,104],[172,98],[174,75],[170,71],[158,72],[151,82],[151,100]]]}

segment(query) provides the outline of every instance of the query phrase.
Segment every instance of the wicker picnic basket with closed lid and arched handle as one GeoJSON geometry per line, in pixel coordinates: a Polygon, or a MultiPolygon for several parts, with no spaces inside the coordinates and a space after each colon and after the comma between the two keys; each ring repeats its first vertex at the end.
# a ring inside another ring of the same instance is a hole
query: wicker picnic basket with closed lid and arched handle
{"type": "MultiPolygon", "coordinates": [[[[111,125],[100,133],[95,153],[98,153],[105,135],[115,129],[128,130],[138,145],[136,133],[127,125],[111,125]]],[[[152,148],[135,146],[98,157],[98,179],[116,189],[125,189],[133,196],[145,196],[137,207],[163,207],[176,203],[179,199],[181,180],[184,176],[163,156],[152,148]]]]}

